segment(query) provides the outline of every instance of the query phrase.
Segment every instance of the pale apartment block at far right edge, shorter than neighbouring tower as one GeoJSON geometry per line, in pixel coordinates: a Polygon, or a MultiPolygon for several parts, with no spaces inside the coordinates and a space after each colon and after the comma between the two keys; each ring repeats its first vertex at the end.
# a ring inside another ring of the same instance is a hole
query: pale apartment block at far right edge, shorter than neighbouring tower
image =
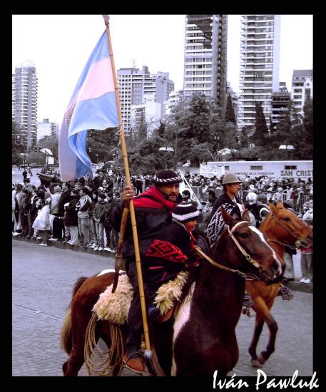
{"type": "Polygon", "coordinates": [[[303,115],[303,106],[307,97],[313,98],[312,69],[293,71],[291,99],[297,112],[303,115]]]}

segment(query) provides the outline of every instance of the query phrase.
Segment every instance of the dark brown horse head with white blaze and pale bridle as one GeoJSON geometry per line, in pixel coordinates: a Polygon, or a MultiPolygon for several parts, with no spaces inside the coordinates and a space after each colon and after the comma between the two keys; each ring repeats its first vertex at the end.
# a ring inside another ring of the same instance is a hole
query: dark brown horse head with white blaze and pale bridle
{"type": "Polygon", "coordinates": [[[220,210],[228,225],[223,236],[228,241],[226,252],[233,266],[266,284],[279,282],[282,279],[282,259],[266,242],[263,233],[250,225],[248,212],[243,212],[241,220],[235,220],[223,207],[220,210]]]}

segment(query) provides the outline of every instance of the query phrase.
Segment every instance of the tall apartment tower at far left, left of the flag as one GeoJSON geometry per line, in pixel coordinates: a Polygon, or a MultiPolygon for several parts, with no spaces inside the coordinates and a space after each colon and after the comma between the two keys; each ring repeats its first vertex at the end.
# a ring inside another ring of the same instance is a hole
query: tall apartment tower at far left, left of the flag
{"type": "Polygon", "coordinates": [[[12,74],[12,120],[21,128],[21,143],[36,144],[37,76],[33,63],[21,64],[12,74]]]}

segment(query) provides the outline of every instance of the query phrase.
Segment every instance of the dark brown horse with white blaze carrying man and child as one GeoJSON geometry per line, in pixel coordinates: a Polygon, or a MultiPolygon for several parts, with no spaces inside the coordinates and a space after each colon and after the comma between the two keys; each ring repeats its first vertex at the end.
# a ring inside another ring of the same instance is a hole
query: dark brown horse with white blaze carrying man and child
{"type": "MultiPolygon", "coordinates": [[[[245,220],[237,221],[224,210],[222,214],[229,228],[220,236],[213,263],[203,260],[178,311],[165,323],[151,328],[155,353],[166,375],[212,376],[217,370],[219,376],[225,376],[238,361],[235,326],[241,314],[245,278],[272,284],[282,277],[280,258],[263,234],[250,225],[248,214],[243,215],[245,220]]],[[[61,346],[70,355],[63,363],[64,376],[77,376],[83,365],[93,305],[112,284],[113,277],[113,272],[104,272],[80,278],[75,284],[61,333],[61,346]]],[[[95,341],[101,337],[109,349],[112,325],[108,321],[96,322],[95,341]]],[[[123,327],[121,331],[123,334],[123,327]]],[[[121,363],[122,355],[123,347],[116,350],[113,360],[121,363]]],[[[113,376],[120,374],[121,369],[114,369],[113,366],[113,376]]]]}

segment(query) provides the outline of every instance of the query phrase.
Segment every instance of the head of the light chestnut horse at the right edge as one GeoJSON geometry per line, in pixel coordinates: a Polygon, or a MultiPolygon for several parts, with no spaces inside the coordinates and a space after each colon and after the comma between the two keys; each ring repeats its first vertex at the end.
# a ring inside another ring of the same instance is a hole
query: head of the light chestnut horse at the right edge
{"type": "Polygon", "coordinates": [[[261,225],[262,231],[268,237],[268,231],[281,242],[295,247],[309,247],[312,244],[312,228],[307,223],[300,220],[297,215],[287,210],[282,202],[270,206],[270,215],[266,217],[268,222],[261,225]]]}

